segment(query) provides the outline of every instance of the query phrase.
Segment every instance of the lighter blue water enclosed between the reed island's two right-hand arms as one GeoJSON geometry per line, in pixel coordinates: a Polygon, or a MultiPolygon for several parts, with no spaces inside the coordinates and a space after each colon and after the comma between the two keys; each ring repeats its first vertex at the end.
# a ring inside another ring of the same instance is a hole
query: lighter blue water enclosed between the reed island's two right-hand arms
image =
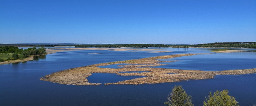
{"type": "Polygon", "coordinates": [[[256,59],[255,52],[214,53],[214,54],[207,54],[207,55],[194,55],[194,56],[167,59],[167,60],[178,60],[178,61],[161,63],[161,64],[168,64],[168,65],[161,65],[156,67],[184,69],[184,70],[203,70],[203,71],[250,69],[250,68],[256,67],[255,59],[256,59]]]}

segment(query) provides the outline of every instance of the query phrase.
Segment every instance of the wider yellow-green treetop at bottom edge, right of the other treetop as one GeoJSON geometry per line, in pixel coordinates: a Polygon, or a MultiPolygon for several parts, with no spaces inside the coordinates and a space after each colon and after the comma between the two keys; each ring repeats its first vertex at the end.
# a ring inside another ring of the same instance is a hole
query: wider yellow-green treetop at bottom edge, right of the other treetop
{"type": "Polygon", "coordinates": [[[239,106],[233,96],[228,95],[228,90],[210,92],[208,98],[204,101],[204,106],[239,106]]]}

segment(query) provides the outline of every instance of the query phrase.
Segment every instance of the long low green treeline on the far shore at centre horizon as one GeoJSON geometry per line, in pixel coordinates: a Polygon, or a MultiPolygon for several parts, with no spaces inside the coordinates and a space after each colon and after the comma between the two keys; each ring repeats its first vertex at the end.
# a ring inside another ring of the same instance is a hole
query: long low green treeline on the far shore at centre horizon
{"type": "Polygon", "coordinates": [[[133,48],[143,48],[143,47],[169,47],[169,45],[164,44],[99,44],[99,45],[74,45],[76,48],[85,47],[133,47],[133,48]]]}

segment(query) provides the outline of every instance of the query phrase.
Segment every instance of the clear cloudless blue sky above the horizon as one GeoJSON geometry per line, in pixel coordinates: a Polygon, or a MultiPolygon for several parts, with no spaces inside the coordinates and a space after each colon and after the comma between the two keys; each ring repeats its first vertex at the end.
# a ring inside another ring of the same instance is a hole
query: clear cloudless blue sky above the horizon
{"type": "Polygon", "coordinates": [[[256,0],[1,0],[0,43],[256,42],[256,0]]]}

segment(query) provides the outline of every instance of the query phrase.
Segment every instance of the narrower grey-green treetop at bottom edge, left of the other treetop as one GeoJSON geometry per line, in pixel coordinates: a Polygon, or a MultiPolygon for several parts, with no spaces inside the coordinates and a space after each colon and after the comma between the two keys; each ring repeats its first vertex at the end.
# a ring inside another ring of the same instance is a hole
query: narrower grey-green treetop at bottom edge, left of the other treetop
{"type": "Polygon", "coordinates": [[[194,106],[192,104],[192,97],[187,95],[182,86],[174,86],[167,100],[164,104],[168,106],[194,106]]]}

